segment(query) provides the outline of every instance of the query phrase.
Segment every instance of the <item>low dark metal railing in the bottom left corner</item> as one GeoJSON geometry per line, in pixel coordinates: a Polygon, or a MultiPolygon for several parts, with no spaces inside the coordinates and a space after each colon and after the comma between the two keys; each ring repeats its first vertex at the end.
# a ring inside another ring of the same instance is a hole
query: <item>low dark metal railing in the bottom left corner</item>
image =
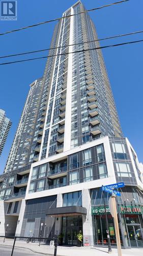
{"type": "MultiPolygon", "coordinates": [[[[19,242],[26,242],[27,244],[30,243],[30,242],[31,243],[35,243],[36,240],[37,240],[37,242],[38,242],[38,243],[36,243],[37,246],[40,246],[41,245],[41,241],[45,240],[45,245],[47,246],[46,250],[48,251],[48,249],[49,249],[48,255],[56,256],[57,245],[58,245],[58,238],[42,238],[41,236],[40,237],[0,236],[0,238],[4,238],[3,243],[6,243],[6,239],[10,239],[10,241],[12,239],[14,240],[13,244],[11,243],[11,245],[8,245],[8,246],[12,247],[11,256],[13,256],[14,248],[15,247],[20,248],[20,245],[19,246],[15,246],[16,240],[19,241],[19,242]]],[[[24,248],[28,249],[27,246],[25,246],[24,248]]],[[[35,248],[36,248],[36,246],[35,246],[35,248]]]]}

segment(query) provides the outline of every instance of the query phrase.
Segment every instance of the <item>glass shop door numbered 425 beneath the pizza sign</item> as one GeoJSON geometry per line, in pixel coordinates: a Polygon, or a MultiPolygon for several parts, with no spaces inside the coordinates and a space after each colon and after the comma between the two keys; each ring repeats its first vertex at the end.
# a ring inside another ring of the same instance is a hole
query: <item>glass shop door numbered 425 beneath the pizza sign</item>
{"type": "Polygon", "coordinates": [[[128,225],[128,233],[131,247],[143,247],[143,236],[140,225],[128,225]]]}

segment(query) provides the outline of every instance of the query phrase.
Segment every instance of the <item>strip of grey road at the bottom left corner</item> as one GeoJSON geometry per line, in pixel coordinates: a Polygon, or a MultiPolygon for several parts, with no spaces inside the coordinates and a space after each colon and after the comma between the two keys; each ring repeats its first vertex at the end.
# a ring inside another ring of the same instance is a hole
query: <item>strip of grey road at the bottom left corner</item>
{"type": "MultiPolygon", "coordinates": [[[[0,255],[2,256],[11,256],[12,247],[1,245],[0,246],[0,255]]],[[[28,249],[20,249],[20,248],[14,248],[13,256],[41,256],[43,254],[32,252],[28,249]]]]}

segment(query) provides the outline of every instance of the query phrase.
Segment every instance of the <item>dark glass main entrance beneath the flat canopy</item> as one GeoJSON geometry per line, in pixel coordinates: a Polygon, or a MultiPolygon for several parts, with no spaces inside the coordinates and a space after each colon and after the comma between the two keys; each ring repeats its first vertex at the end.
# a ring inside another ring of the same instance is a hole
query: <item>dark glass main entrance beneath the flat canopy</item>
{"type": "Polygon", "coordinates": [[[82,216],[62,217],[63,245],[77,245],[77,233],[82,231],[82,216]]]}

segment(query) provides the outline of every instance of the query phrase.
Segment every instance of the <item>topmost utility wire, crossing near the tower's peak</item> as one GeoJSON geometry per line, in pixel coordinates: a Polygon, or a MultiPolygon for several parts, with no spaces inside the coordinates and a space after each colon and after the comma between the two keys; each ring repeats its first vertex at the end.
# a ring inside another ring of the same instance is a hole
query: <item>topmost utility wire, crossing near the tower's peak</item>
{"type": "Polygon", "coordinates": [[[71,15],[68,15],[68,16],[63,16],[63,17],[60,17],[60,18],[54,18],[54,19],[46,20],[46,22],[37,23],[37,24],[31,25],[31,26],[20,28],[20,29],[14,29],[14,30],[11,30],[11,31],[7,31],[7,32],[4,32],[4,33],[1,33],[0,35],[5,35],[5,34],[17,32],[17,31],[20,31],[20,30],[23,30],[23,29],[28,29],[28,28],[40,26],[40,25],[43,25],[43,24],[46,24],[46,23],[50,23],[50,22],[55,22],[56,20],[60,20],[60,19],[64,19],[64,18],[69,18],[71,16],[75,16],[75,15],[78,15],[78,14],[99,10],[99,9],[104,8],[104,7],[109,7],[109,6],[112,6],[112,5],[118,5],[118,4],[127,2],[127,1],[130,1],[130,0],[123,0],[123,1],[115,2],[115,3],[109,4],[109,5],[103,5],[103,6],[100,6],[100,7],[97,7],[97,8],[93,8],[93,9],[85,10],[85,11],[82,11],[82,12],[79,12],[79,13],[71,14],[71,15]]]}

